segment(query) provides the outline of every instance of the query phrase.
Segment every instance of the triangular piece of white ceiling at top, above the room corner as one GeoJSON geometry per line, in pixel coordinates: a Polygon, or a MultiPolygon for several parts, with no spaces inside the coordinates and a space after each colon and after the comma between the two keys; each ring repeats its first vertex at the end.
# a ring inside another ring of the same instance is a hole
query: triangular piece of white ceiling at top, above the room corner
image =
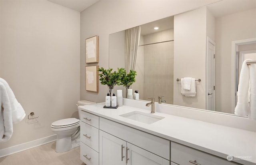
{"type": "Polygon", "coordinates": [[[48,0],[50,2],[65,6],[67,8],[71,8],[78,12],[82,12],[84,9],[92,6],[99,0],[48,0]]]}

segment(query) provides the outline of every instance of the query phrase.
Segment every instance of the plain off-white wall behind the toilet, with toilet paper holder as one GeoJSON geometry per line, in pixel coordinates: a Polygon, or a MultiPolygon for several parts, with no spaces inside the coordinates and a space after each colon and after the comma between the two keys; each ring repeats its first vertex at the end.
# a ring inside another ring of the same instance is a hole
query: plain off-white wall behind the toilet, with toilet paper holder
{"type": "Polygon", "coordinates": [[[0,74],[37,123],[14,125],[0,148],[54,133],[53,121],[78,117],[80,99],[80,13],[47,0],[1,1],[0,74]]]}

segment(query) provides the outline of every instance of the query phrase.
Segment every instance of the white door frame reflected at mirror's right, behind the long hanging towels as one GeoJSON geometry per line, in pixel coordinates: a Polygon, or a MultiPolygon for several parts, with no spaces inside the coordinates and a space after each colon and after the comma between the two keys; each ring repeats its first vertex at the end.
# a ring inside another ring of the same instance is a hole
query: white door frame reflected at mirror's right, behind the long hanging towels
{"type": "Polygon", "coordinates": [[[256,38],[248,38],[244,40],[236,40],[232,41],[232,46],[231,46],[231,112],[234,114],[235,112],[235,107],[237,103],[237,89],[238,89],[238,83],[237,83],[237,68],[238,68],[238,46],[239,45],[244,45],[244,44],[253,44],[256,43],[256,38]]]}

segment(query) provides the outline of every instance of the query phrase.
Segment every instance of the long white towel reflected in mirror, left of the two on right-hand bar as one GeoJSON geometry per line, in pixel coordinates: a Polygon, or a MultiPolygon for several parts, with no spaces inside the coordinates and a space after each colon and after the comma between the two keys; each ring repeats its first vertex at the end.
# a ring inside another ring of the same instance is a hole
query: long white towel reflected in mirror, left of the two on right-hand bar
{"type": "Polygon", "coordinates": [[[249,82],[250,73],[249,67],[246,62],[251,61],[251,59],[244,60],[242,64],[242,69],[240,72],[240,79],[237,91],[237,104],[235,107],[235,114],[239,116],[247,116],[249,114],[249,82]]]}

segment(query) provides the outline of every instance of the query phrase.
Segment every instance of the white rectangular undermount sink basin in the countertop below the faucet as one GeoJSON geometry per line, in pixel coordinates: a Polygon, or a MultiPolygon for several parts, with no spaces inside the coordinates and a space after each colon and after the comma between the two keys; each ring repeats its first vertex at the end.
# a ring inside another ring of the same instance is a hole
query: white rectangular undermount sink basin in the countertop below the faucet
{"type": "Polygon", "coordinates": [[[152,124],[156,121],[164,119],[164,117],[162,117],[162,116],[153,115],[151,113],[144,113],[144,112],[140,112],[140,111],[132,111],[129,113],[122,114],[120,116],[126,117],[128,119],[132,119],[135,121],[140,121],[140,122],[146,123],[146,124],[152,124]]]}

